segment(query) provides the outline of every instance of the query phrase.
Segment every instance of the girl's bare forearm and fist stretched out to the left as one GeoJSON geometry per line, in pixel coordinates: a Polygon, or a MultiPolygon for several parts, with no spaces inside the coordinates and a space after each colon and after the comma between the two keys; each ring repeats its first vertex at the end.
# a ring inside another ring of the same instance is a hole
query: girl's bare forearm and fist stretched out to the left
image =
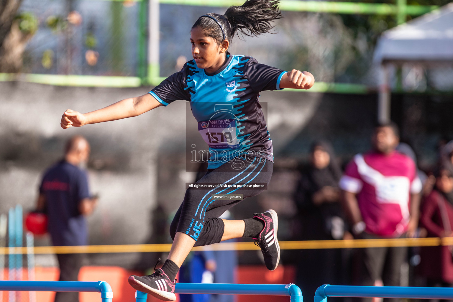
{"type": "Polygon", "coordinates": [[[69,127],[81,127],[87,124],[120,120],[126,117],[141,115],[146,111],[161,106],[154,96],[149,93],[143,96],[124,99],[110,106],[88,113],[80,113],[71,109],[66,110],[61,117],[60,126],[63,129],[69,127]]]}

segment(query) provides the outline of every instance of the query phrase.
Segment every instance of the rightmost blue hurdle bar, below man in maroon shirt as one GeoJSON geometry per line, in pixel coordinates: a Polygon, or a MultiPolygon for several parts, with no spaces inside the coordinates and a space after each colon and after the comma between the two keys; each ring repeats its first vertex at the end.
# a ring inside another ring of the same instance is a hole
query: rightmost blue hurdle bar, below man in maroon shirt
{"type": "Polygon", "coordinates": [[[421,288],[403,286],[320,286],[314,302],[327,302],[328,297],[377,297],[407,299],[453,299],[453,288],[421,288]]]}

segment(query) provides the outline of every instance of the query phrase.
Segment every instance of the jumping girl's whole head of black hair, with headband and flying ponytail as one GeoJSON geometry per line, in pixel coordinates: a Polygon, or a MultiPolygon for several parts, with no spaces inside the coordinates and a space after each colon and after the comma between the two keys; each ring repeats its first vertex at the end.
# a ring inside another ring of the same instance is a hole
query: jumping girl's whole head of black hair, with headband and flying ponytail
{"type": "Polygon", "coordinates": [[[209,13],[198,18],[192,28],[200,27],[204,34],[222,43],[231,39],[238,31],[246,36],[269,33],[272,21],[282,18],[279,1],[246,0],[243,5],[230,6],[224,15],[209,13]]]}

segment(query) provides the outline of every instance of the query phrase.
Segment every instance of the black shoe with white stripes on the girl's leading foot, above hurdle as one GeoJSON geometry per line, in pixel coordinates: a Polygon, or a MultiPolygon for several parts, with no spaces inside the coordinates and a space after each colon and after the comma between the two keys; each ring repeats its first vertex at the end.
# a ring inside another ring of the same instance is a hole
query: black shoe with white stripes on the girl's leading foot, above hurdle
{"type": "Polygon", "coordinates": [[[172,282],[167,274],[160,268],[156,269],[153,274],[148,276],[139,277],[132,275],[127,281],[134,289],[140,292],[149,293],[160,300],[176,300],[176,296],[174,295],[176,279],[172,282]]]}

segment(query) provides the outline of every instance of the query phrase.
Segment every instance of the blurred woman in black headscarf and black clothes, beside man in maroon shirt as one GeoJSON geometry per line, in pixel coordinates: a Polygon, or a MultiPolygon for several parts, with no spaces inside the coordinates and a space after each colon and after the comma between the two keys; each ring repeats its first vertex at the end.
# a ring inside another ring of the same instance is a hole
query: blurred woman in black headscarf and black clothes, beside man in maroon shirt
{"type": "MultiPolygon", "coordinates": [[[[344,220],[339,203],[341,169],[333,148],[326,141],[312,144],[310,162],[301,169],[294,195],[299,216],[300,240],[343,239],[344,220]]],[[[297,281],[305,292],[315,292],[319,284],[341,284],[344,261],[340,249],[301,250],[297,257],[297,281]]]]}

